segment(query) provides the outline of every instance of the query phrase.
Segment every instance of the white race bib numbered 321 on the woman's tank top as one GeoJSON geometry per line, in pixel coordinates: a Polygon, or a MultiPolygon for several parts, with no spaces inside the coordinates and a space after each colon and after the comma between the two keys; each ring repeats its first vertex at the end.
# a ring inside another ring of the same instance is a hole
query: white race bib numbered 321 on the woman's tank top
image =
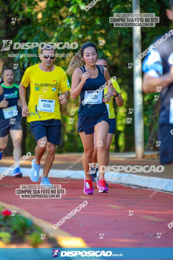
{"type": "Polygon", "coordinates": [[[101,104],[103,90],[90,90],[85,91],[84,103],[85,104],[101,104]]]}

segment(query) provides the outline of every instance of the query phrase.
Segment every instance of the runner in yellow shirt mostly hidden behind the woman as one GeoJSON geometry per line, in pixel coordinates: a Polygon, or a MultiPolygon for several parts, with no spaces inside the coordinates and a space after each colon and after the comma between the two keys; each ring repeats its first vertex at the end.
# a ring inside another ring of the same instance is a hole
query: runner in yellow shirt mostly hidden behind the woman
{"type": "MultiPolygon", "coordinates": [[[[98,65],[102,65],[103,67],[108,68],[108,60],[106,58],[98,58],[96,64],[98,65]]],[[[109,152],[110,152],[110,148],[111,148],[111,142],[112,142],[112,138],[115,132],[115,128],[116,128],[116,121],[115,121],[115,111],[113,108],[113,100],[115,99],[116,104],[118,106],[123,106],[123,98],[121,96],[121,89],[118,85],[117,81],[112,82],[113,85],[113,96],[111,97],[110,102],[106,103],[107,109],[108,109],[108,113],[109,113],[109,122],[110,122],[110,126],[109,126],[109,132],[108,132],[108,137],[106,139],[106,151],[107,151],[107,161],[106,161],[106,165],[108,165],[109,163],[109,152]]],[[[106,94],[108,92],[107,87],[104,89],[104,94],[106,94]]],[[[93,161],[92,161],[93,165],[95,165],[95,163],[97,163],[97,143],[96,143],[96,138],[95,138],[95,134],[94,134],[94,152],[93,152],[93,161]]],[[[96,181],[97,179],[97,170],[98,168],[91,168],[90,174],[92,177],[93,182],[96,181]]],[[[108,184],[106,183],[106,186],[108,187],[108,184]]]]}

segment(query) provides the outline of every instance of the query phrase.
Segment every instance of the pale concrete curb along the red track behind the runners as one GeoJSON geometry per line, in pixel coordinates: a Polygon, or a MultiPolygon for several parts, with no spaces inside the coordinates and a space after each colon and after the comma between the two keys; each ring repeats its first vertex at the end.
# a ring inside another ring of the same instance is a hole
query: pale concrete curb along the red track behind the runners
{"type": "MultiPolygon", "coordinates": [[[[0,167],[0,174],[6,170],[6,167],[0,167]]],[[[29,177],[31,168],[23,168],[22,173],[24,177],[29,177]]],[[[12,176],[13,171],[9,171],[7,176],[12,176]]],[[[40,176],[42,176],[43,170],[40,170],[40,176]]],[[[85,177],[83,170],[50,170],[50,178],[73,178],[83,179],[85,177]]],[[[173,179],[143,176],[131,173],[105,173],[105,178],[108,183],[119,183],[142,187],[146,189],[153,189],[159,191],[173,192],[173,179]]]]}

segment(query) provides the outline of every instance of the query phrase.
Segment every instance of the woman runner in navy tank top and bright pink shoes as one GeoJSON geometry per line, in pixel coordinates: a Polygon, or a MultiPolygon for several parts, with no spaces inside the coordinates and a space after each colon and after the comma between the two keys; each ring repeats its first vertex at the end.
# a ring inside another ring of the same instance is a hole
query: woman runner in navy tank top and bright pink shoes
{"type": "Polygon", "coordinates": [[[109,118],[105,103],[111,100],[113,85],[108,69],[95,65],[97,58],[98,51],[95,44],[84,43],[72,58],[68,68],[68,71],[77,68],[72,76],[71,97],[73,100],[78,98],[79,95],[81,97],[78,110],[78,132],[84,148],[85,194],[94,194],[90,176],[94,150],[94,132],[97,139],[98,168],[100,169],[100,180],[97,181],[97,187],[99,192],[108,192],[104,179],[104,167],[100,166],[106,166],[106,139],[109,131],[109,118]],[[77,67],[75,67],[76,64],[78,64],[77,67]],[[108,88],[107,96],[104,96],[105,87],[108,88]]]}

